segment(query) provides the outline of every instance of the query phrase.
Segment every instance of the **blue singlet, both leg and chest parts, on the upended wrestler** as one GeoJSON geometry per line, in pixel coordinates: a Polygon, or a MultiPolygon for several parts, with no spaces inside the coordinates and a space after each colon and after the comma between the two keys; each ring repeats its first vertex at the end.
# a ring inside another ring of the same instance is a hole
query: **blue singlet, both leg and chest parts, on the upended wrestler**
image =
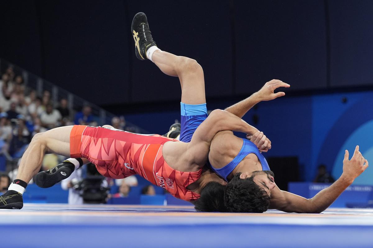
{"type": "MultiPolygon", "coordinates": [[[[190,142],[193,133],[198,128],[198,126],[207,118],[207,108],[206,103],[203,104],[181,104],[181,133],[180,141],[190,142]]],[[[248,139],[242,139],[244,142],[242,144],[241,151],[229,164],[225,165],[223,168],[216,169],[209,162],[211,169],[218,175],[220,175],[224,180],[227,180],[229,173],[233,171],[234,168],[241,162],[248,154],[254,153],[257,155],[260,161],[263,171],[269,171],[269,165],[260,153],[256,145],[249,141],[248,139]]]]}

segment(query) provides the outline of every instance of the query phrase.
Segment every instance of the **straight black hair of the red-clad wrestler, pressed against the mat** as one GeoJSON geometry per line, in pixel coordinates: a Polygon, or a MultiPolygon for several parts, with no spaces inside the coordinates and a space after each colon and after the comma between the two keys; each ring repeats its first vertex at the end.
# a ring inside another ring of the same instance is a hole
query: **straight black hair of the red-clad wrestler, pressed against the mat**
{"type": "Polygon", "coordinates": [[[201,197],[196,200],[194,208],[200,212],[226,212],[224,204],[225,186],[211,181],[201,190],[201,197]]]}

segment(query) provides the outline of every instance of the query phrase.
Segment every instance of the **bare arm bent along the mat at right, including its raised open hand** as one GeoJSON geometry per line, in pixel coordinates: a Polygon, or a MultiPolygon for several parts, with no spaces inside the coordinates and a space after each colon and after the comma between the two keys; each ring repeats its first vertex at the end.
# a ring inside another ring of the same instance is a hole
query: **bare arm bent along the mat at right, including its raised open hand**
{"type": "Polygon", "coordinates": [[[346,150],[343,160],[343,173],[332,185],[323,189],[311,199],[282,191],[276,186],[271,193],[269,208],[284,212],[321,213],[352,184],[355,178],[366,170],[368,165],[368,161],[359,151],[359,146],[356,146],[351,160],[348,160],[348,151],[346,150]]]}

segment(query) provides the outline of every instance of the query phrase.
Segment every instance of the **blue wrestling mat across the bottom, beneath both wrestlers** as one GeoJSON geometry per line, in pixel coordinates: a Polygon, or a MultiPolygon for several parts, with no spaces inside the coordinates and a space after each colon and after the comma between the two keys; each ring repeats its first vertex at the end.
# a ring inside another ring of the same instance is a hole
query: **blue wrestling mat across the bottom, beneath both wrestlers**
{"type": "Polygon", "coordinates": [[[4,248],[364,248],[373,247],[373,209],[243,214],[189,206],[25,204],[0,210],[0,236],[4,248]]]}

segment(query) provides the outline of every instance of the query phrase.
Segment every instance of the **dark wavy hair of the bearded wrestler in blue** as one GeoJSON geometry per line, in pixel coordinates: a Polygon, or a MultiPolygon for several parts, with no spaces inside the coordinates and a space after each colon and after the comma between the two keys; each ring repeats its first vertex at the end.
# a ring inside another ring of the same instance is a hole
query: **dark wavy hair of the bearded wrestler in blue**
{"type": "Polygon", "coordinates": [[[225,189],[224,202],[228,212],[263,213],[268,210],[269,196],[259,187],[253,177],[241,179],[234,175],[225,189]]]}

